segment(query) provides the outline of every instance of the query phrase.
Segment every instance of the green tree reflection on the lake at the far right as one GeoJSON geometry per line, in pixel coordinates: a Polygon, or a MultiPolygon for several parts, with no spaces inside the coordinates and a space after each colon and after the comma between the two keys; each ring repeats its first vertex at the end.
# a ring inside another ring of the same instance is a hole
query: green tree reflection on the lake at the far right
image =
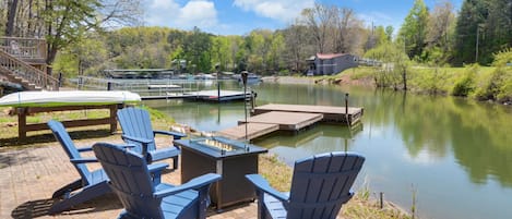
{"type": "Polygon", "coordinates": [[[472,182],[484,184],[496,178],[503,186],[512,186],[512,135],[507,132],[512,130],[512,117],[503,113],[503,107],[457,98],[377,94],[388,104],[376,106],[384,112],[372,114],[372,122],[385,125],[394,121],[412,157],[427,151],[443,158],[452,151],[472,182]]]}

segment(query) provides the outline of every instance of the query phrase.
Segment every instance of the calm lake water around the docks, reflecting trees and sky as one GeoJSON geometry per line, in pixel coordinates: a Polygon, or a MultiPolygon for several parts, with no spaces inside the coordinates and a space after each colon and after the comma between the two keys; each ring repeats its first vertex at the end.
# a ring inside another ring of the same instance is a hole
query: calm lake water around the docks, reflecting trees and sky
{"type": "MultiPolygon", "coordinates": [[[[225,83],[223,88],[239,85],[225,83]]],[[[356,190],[365,183],[374,197],[383,192],[406,210],[416,193],[420,218],[512,218],[511,107],[361,87],[262,83],[252,88],[259,106],[344,106],[349,93],[349,105],[365,108],[361,125],[354,130],[319,124],[254,142],[287,163],[319,153],[357,151],[367,161],[356,190]]],[[[235,126],[245,117],[242,102],[144,104],[201,131],[235,126]]]]}

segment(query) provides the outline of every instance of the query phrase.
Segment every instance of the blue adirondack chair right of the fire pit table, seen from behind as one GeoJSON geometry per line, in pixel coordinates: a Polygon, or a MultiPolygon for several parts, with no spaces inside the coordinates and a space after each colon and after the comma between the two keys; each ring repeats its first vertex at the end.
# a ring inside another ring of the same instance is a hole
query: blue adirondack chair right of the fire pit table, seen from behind
{"type": "Polygon", "coordinates": [[[350,187],[365,158],[356,154],[321,154],[295,162],[289,193],[270,186],[259,174],[248,174],[258,195],[258,218],[336,218],[354,193],[350,187]]]}

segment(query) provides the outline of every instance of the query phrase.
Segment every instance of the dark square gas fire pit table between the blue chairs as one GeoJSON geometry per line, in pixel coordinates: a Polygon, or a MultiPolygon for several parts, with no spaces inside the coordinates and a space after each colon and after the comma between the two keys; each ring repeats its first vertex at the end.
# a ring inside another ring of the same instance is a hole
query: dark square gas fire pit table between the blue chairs
{"type": "Polygon", "coordinates": [[[210,172],[223,175],[210,188],[217,211],[254,200],[254,187],[245,175],[258,173],[258,156],[267,149],[225,137],[178,139],[175,144],[181,147],[181,183],[210,172]]]}

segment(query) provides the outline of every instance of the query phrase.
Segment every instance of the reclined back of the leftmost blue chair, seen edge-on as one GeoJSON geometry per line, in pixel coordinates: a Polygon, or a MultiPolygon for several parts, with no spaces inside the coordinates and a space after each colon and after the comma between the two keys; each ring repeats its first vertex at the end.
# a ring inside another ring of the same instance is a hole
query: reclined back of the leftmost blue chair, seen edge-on
{"type": "MultiPolygon", "coordinates": [[[[48,126],[50,127],[56,139],[59,141],[60,145],[66,150],[66,154],[68,154],[70,159],[82,158],[82,156],[80,156],[79,150],[74,146],[71,136],[68,134],[62,123],[56,120],[50,120],[48,122],[48,126]]],[[[76,168],[76,170],[79,171],[80,177],[82,177],[82,180],[86,181],[85,184],[91,184],[91,171],[88,171],[87,166],[85,166],[85,163],[74,163],[74,168],[76,168]]]]}

